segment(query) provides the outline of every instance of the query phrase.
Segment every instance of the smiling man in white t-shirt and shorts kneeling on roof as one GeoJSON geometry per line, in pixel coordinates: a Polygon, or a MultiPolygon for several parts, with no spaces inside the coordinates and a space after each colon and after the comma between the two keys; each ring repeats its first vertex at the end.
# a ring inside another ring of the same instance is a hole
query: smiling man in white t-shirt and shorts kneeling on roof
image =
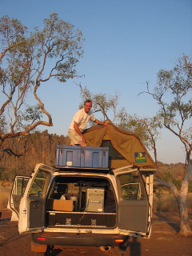
{"type": "Polygon", "coordinates": [[[98,121],[98,119],[94,118],[94,114],[90,111],[91,107],[92,102],[90,100],[86,100],[86,102],[84,102],[84,108],[78,110],[74,114],[74,118],[70,123],[68,131],[68,135],[71,140],[70,145],[87,146],[86,139],[83,137],[82,132],[86,128],[86,125],[90,120],[102,126],[107,126],[107,124],[109,123],[109,121],[100,122],[98,121]]]}

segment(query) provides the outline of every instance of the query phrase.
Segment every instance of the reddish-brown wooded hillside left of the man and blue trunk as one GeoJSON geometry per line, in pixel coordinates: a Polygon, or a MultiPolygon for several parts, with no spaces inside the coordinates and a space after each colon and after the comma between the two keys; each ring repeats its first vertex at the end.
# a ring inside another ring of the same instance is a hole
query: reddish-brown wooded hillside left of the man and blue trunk
{"type": "Polygon", "coordinates": [[[10,138],[3,144],[3,149],[10,149],[15,154],[4,153],[0,160],[0,168],[6,173],[29,175],[34,166],[43,162],[48,165],[56,164],[56,151],[58,145],[70,145],[69,138],[48,134],[47,130],[42,133],[30,134],[29,138],[10,138]]]}

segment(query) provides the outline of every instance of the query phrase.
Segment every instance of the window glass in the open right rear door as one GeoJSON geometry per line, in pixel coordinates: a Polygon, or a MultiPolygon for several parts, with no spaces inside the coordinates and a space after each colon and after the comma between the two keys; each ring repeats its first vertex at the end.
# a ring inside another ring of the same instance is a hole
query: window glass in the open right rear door
{"type": "Polygon", "coordinates": [[[134,173],[120,175],[122,198],[124,200],[143,200],[146,193],[142,178],[134,173]]]}

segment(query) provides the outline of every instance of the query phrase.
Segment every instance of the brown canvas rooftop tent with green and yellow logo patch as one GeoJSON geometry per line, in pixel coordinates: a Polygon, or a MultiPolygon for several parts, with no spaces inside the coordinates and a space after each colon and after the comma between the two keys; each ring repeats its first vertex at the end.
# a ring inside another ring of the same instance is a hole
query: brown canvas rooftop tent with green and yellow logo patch
{"type": "MultiPolygon", "coordinates": [[[[85,130],[87,146],[106,146],[109,142],[111,149],[117,151],[121,158],[111,157],[110,167],[138,166],[154,168],[154,161],[136,134],[120,130],[112,122],[108,126],[95,125],[85,130]]],[[[111,150],[110,150],[111,151],[111,150]]]]}

